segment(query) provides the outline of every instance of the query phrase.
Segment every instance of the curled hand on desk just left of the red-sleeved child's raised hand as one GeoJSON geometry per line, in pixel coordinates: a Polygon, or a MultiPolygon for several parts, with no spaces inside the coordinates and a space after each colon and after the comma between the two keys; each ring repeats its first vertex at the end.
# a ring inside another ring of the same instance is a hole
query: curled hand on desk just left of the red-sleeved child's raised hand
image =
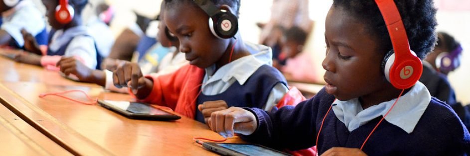
{"type": "Polygon", "coordinates": [[[94,70],[83,65],[83,63],[75,57],[62,57],[60,61],[57,62],[56,66],[60,67],[60,72],[64,73],[66,76],[73,74],[77,76],[80,81],[94,82],[92,76],[94,70]]]}

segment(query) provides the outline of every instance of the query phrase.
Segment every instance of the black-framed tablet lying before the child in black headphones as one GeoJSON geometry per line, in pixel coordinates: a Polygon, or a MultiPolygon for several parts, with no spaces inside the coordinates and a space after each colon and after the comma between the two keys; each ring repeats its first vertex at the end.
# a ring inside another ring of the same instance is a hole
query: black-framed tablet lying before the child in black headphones
{"type": "Polygon", "coordinates": [[[113,100],[98,100],[98,103],[131,119],[171,121],[181,118],[165,110],[152,107],[147,103],[113,100]]]}

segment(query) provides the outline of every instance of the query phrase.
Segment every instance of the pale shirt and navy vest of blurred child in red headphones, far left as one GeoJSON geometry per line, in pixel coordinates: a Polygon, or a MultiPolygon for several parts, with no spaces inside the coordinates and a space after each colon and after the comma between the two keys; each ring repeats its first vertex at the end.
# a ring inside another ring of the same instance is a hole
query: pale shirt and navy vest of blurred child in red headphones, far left
{"type": "Polygon", "coordinates": [[[75,26],[66,31],[51,31],[49,38],[47,55],[41,57],[43,67],[56,69],[55,65],[62,56],[74,56],[86,67],[99,69],[102,57],[86,26],[75,26]]]}

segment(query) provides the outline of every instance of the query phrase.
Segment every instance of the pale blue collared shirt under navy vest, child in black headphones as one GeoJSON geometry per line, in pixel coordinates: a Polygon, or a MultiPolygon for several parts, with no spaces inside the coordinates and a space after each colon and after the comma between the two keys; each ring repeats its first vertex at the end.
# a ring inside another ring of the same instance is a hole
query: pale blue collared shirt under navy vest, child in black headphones
{"type": "MultiPolygon", "coordinates": [[[[202,93],[216,95],[227,90],[235,81],[243,85],[253,73],[263,65],[272,65],[272,52],[269,47],[246,43],[248,51],[253,55],[245,56],[226,64],[215,71],[215,65],[205,69],[202,82],[202,93]]],[[[264,110],[270,111],[289,91],[283,83],[276,84],[271,90],[264,110]]]]}

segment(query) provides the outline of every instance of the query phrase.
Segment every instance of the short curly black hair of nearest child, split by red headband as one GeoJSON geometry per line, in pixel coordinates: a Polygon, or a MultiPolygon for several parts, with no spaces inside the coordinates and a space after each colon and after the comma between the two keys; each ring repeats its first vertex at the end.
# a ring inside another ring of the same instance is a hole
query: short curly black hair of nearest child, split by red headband
{"type": "MultiPolygon", "coordinates": [[[[433,0],[394,0],[405,25],[410,48],[423,59],[434,50],[436,44],[436,8],[433,0]]],[[[363,21],[371,35],[379,39],[380,50],[392,49],[392,43],[382,14],[374,0],[333,0],[334,7],[363,21]],[[383,37],[381,37],[383,36],[383,37]],[[387,36],[387,37],[385,37],[387,36]]]]}

